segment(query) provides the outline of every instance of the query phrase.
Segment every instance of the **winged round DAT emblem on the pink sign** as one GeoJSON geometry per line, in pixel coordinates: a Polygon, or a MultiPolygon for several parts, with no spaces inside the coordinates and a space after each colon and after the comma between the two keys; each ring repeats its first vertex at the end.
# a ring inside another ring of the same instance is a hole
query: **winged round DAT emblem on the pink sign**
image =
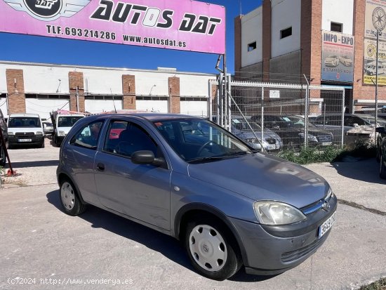
{"type": "Polygon", "coordinates": [[[91,0],[3,0],[17,11],[24,11],[41,21],[71,17],[81,11],[91,0]]]}

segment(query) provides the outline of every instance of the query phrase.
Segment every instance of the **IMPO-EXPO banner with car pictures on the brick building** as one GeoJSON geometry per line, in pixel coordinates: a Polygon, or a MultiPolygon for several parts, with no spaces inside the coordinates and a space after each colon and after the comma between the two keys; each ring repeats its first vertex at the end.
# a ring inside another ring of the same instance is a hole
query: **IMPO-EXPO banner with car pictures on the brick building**
{"type": "Polygon", "coordinates": [[[354,79],[354,37],[350,34],[321,32],[321,79],[352,82],[354,79]]]}

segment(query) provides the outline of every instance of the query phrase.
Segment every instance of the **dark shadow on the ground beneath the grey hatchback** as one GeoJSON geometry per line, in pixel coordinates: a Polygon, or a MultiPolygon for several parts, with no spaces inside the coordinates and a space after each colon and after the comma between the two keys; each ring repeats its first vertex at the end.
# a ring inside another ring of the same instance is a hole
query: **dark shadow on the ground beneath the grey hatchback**
{"type": "MultiPolygon", "coordinates": [[[[58,210],[62,211],[62,206],[59,199],[59,190],[53,190],[46,195],[50,204],[53,204],[58,210]]],[[[171,261],[182,265],[183,267],[194,271],[194,268],[190,264],[189,258],[185,249],[180,242],[173,237],[164,235],[161,232],[152,230],[140,225],[121,216],[117,216],[114,213],[109,213],[102,209],[98,209],[95,206],[88,206],[87,211],[82,213],[78,218],[83,218],[91,223],[93,228],[102,228],[113,232],[126,239],[131,239],[138,242],[149,249],[157,251],[171,261]]],[[[270,279],[274,276],[255,276],[247,275],[244,269],[241,269],[237,275],[234,275],[229,280],[235,282],[259,282],[266,279],[270,279]]]]}

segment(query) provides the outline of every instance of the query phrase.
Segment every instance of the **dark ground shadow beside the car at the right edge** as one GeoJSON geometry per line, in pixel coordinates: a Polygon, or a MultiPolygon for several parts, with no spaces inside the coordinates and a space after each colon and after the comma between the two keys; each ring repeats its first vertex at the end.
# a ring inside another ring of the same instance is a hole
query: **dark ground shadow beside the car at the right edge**
{"type": "Polygon", "coordinates": [[[354,162],[331,163],[338,174],[347,178],[366,181],[368,183],[386,184],[386,180],[379,177],[380,164],[375,158],[357,160],[354,162]]]}

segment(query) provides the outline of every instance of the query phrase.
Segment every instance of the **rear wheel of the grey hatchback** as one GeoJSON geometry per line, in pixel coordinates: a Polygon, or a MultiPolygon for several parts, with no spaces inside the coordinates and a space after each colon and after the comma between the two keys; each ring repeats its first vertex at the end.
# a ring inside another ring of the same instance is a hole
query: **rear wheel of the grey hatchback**
{"type": "Polygon", "coordinates": [[[77,216],[86,210],[86,204],[79,199],[78,192],[67,178],[60,182],[60,204],[69,216],[77,216]]]}

